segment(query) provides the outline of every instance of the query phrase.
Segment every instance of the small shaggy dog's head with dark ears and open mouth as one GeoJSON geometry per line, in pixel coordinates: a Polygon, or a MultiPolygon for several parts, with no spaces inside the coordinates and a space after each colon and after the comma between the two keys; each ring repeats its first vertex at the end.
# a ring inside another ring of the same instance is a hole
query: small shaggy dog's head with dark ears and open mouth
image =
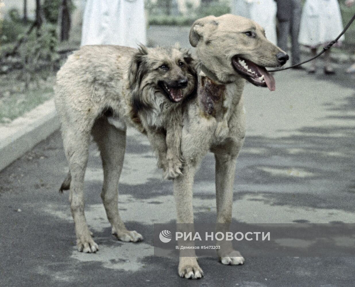
{"type": "Polygon", "coordinates": [[[129,71],[133,106],[139,110],[157,101],[181,102],[193,92],[195,75],[193,59],[187,49],[140,45],[129,71]]]}

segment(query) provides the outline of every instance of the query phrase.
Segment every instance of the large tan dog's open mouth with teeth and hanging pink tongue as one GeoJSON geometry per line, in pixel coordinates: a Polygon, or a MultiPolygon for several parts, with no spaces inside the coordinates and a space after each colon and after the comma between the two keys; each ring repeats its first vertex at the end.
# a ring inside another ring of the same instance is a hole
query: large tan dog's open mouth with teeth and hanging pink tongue
{"type": "Polygon", "coordinates": [[[232,58],[232,65],[250,83],[260,87],[268,87],[271,91],[275,90],[275,79],[266,68],[238,56],[232,58]]]}

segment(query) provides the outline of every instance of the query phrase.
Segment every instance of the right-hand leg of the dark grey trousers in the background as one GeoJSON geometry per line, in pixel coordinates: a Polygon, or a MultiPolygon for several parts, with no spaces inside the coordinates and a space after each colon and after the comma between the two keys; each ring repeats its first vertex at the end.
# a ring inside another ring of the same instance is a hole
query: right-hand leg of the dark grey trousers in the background
{"type": "Polygon", "coordinates": [[[291,23],[290,23],[290,33],[291,33],[291,53],[292,53],[292,65],[298,64],[300,59],[300,47],[298,43],[298,34],[300,32],[301,24],[301,13],[302,6],[301,0],[293,0],[293,9],[291,12],[291,23]]]}

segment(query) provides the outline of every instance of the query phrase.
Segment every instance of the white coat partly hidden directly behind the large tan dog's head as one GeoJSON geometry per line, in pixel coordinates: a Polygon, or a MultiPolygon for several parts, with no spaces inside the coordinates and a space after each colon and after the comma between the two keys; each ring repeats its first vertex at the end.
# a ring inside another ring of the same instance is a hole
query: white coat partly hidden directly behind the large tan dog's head
{"type": "Polygon", "coordinates": [[[265,29],[266,38],[277,43],[276,3],[274,0],[233,0],[231,13],[249,18],[265,29]]]}

